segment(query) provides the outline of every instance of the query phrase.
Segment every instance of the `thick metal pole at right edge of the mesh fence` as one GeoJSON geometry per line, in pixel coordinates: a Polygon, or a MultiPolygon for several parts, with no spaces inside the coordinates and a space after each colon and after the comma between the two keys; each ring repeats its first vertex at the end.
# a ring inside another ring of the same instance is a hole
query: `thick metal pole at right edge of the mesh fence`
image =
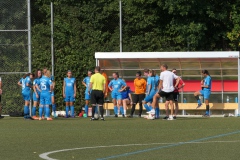
{"type": "MultiPolygon", "coordinates": [[[[28,72],[32,72],[32,45],[31,45],[31,3],[30,0],[27,1],[28,3],[28,72]]],[[[30,100],[29,104],[30,116],[32,116],[32,101],[30,100]]]]}

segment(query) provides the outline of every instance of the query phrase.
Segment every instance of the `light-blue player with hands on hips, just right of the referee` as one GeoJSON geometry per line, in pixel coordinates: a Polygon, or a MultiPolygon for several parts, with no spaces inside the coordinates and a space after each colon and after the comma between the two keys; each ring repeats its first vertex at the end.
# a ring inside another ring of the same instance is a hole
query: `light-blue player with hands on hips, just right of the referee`
{"type": "Polygon", "coordinates": [[[124,114],[121,92],[126,89],[127,85],[122,79],[119,78],[118,72],[113,72],[112,76],[113,76],[113,80],[111,80],[110,83],[108,84],[108,88],[112,92],[111,96],[114,104],[115,117],[118,117],[120,109],[122,114],[124,114]]]}

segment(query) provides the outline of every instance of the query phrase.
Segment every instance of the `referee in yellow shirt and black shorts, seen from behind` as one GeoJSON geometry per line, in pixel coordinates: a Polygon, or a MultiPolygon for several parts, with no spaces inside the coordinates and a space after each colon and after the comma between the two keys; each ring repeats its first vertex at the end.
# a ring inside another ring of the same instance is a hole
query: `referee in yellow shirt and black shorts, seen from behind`
{"type": "Polygon", "coordinates": [[[92,104],[92,118],[91,121],[94,119],[94,113],[96,106],[100,108],[101,120],[104,121],[103,117],[103,103],[104,103],[104,93],[105,93],[105,84],[106,80],[103,75],[100,74],[100,67],[95,67],[95,74],[91,76],[90,84],[88,88],[88,94],[90,94],[91,90],[91,104],[92,104]]]}

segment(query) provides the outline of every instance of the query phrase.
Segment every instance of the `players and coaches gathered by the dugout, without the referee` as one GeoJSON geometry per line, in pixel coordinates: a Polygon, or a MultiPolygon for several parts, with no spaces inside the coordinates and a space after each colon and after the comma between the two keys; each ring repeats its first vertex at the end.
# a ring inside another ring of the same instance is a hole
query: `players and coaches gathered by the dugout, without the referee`
{"type": "MultiPolygon", "coordinates": [[[[85,114],[88,116],[89,102],[91,99],[91,90],[89,90],[90,79],[92,71],[88,71],[88,76],[82,81],[82,84],[86,87],[85,91],[85,114]]],[[[207,70],[202,71],[204,80],[201,81],[201,91],[194,93],[194,96],[198,102],[197,108],[202,106],[202,102],[199,99],[199,95],[203,95],[206,103],[206,114],[209,116],[209,97],[211,94],[211,77],[207,70]]],[[[132,118],[135,112],[136,104],[139,103],[138,116],[142,116],[143,106],[145,107],[148,119],[158,119],[160,117],[159,98],[166,98],[165,120],[176,119],[178,113],[178,97],[179,91],[185,86],[183,80],[177,76],[177,70],[174,68],[172,71],[168,71],[168,66],[163,64],[161,66],[161,74],[158,76],[154,70],[144,69],[144,76],[147,77],[147,81],[142,78],[141,71],[136,73],[136,79],[134,80],[135,92],[130,90],[124,79],[119,78],[118,72],[113,72],[112,80],[108,83],[107,75],[102,72],[105,77],[105,89],[104,97],[107,97],[108,89],[111,91],[111,98],[114,105],[115,117],[122,114],[122,117],[126,117],[127,108],[131,105],[129,118],[132,118]],[[107,89],[108,88],[108,89],[107,89]],[[175,105],[174,105],[175,103],[175,105]],[[169,105],[171,107],[171,113],[169,114],[169,105]],[[175,106],[175,107],[174,107],[175,106]],[[175,108],[175,112],[174,112],[175,108]]],[[[51,72],[44,68],[38,69],[35,74],[25,74],[18,85],[22,87],[22,95],[24,98],[24,118],[35,120],[52,120],[50,113],[52,106],[53,116],[56,115],[56,105],[54,99],[55,82],[51,72]],[[33,82],[32,82],[33,81],[33,82]],[[30,99],[31,89],[33,90],[33,107],[30,116],[30,99]],[[39,116],[36,116],[36,108],[39,106],[39,116]]],[[[66,103],[66,118],[75,117],[74,102],[76,97],[76,79],[72,77],[72,72],[67,71],[66,78],[63,79],[63,98],[66,103]]],[[[93,105],[93,104],[92,104],[93,105]]],[[[94,109],[94,113],[98,110],[94,109]]],[[[93,115],[92,115],[93,116],[93,115]]],[[[94,117],[93,117],[94,118],[94,117]]]]}

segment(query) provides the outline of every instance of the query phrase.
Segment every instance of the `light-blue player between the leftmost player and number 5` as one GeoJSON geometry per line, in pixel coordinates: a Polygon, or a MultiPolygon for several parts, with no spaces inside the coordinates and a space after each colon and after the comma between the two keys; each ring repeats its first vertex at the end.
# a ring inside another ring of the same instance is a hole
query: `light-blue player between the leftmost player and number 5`
{"type": "Polygon", "coordinates": [[[35,78],[33,80],[33,108],[32,108],[32,118],[33,119],[39,119],[36,116],[36,107],[39,105],[40,100],[40,90],[38,90],[38,87],[40,85],[40,78],[42,77],[42,71],[38,69],[35,73],[35,78]]]}

